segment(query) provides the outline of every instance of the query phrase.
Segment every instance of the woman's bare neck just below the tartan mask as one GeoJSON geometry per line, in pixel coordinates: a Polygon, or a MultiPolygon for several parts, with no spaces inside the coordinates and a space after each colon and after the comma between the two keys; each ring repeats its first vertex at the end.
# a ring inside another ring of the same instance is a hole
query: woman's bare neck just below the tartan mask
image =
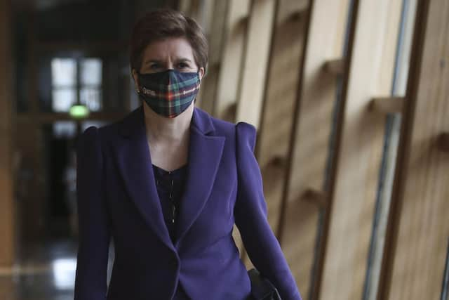
{"type": "Polygon", "coordinates": [[[190,122],[194,111],[194,103],[187,110],[174,118],[167,118],[156,114],[146,103],[143,103],[145,112],[145,127],[147,140],[152,143],[180,143],[188,134],[190,122]]]}

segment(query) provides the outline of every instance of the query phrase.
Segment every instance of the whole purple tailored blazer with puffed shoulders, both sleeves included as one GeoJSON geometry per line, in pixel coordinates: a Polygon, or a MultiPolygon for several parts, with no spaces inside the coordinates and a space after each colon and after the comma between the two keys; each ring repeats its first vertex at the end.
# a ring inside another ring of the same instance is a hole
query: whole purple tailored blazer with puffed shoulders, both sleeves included
{"type": "Polygon", "coordinates": [[[75,300],[165,300],[178,280],[194,300],[243,300],[250,280],[232,238],[234,221],[251,261],[301,299],[267,221],[255,127],[194,107],[189,164],[173,243],[161,213],[143,107],[121,122],[90,127],[78,143],[79,249],[75,300]],[[109,289],[109,238],[115,261],[109,289]]]}

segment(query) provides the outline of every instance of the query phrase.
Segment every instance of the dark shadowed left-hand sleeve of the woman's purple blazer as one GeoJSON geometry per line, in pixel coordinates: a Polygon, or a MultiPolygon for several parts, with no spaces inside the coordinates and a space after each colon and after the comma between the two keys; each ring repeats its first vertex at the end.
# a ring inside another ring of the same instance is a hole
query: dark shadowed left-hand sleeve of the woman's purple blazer
{"type": "Polygon", "coordinates": [[[74,300],[105,300],[107,293],[109,226],[98,131],[95,126],[86,129],[76,148],[79,246],[74,300]]]}

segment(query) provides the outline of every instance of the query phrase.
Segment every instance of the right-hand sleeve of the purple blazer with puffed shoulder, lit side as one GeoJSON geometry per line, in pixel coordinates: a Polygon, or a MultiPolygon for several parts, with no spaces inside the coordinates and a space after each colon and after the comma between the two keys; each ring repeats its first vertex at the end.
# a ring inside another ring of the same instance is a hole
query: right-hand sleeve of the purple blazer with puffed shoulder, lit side
{"type": "Polygon", "coordinates": [[[234,217],[255,268],[278,289],[283,300],[300,300],[288,263],[267,220],[262,174],[254,155],[255,127],[236,124],[237,199],[234,217]]]}

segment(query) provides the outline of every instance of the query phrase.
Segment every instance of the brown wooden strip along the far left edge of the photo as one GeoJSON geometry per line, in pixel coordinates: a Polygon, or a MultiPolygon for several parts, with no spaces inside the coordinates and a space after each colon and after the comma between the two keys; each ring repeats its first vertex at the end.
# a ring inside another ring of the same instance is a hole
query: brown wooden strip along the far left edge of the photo
{"type": "Polygon", "coordinates": [[[11,72],[11,6],[0,1],[0,266],[11,267],[15,254],[13,201],[13,126],[11,72]]]}

